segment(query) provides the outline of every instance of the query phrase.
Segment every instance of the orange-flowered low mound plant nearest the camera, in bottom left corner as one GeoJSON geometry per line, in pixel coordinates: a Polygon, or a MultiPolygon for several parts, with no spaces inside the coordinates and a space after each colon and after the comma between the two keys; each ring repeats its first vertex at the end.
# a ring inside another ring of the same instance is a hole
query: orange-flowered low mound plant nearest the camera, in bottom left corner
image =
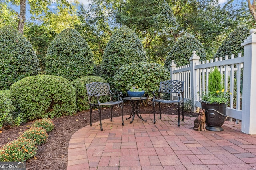
{"type": "Polygon", "coordinates": [[[0,161],[23,162],[36,155],[37,150],[36,144],[31,139],[20,137],[0,148],[0,161]]]}

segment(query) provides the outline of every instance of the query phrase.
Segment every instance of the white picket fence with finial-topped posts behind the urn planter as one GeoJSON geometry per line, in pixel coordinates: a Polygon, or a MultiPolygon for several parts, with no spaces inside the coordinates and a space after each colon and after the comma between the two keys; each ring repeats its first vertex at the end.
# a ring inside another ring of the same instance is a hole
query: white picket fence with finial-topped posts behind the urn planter
{"type": "Polygon", "coordinates": [[[256,134],[256,30],[250,30],[250,36],[241,45],[244,46],[244,56],[226,56],[200,62],[196,51],[192,52],[190,64],[176,67],[171,64],[171,79],[185,81],[184,98],[192,100],[194,106],[200,104],[200,95],[208,89],[208,76],[217,67],[223,75],[226,91],[232,93],[227,107],[227,115],[241,121],[241,131],[256,134]],[[255,87],[254,87],[255,86],[255,87]]]}

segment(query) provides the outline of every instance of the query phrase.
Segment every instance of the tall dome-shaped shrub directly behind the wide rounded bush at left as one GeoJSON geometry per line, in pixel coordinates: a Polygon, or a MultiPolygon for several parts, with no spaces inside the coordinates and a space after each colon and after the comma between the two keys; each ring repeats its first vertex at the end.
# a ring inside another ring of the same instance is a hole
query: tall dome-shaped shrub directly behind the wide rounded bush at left
{"type": "Polygon", "coordinates": [[[93,54],[85,39],[74,29],[65,29],[48,46],[46,74],[74,80],[93,74],[93,54]]]}

